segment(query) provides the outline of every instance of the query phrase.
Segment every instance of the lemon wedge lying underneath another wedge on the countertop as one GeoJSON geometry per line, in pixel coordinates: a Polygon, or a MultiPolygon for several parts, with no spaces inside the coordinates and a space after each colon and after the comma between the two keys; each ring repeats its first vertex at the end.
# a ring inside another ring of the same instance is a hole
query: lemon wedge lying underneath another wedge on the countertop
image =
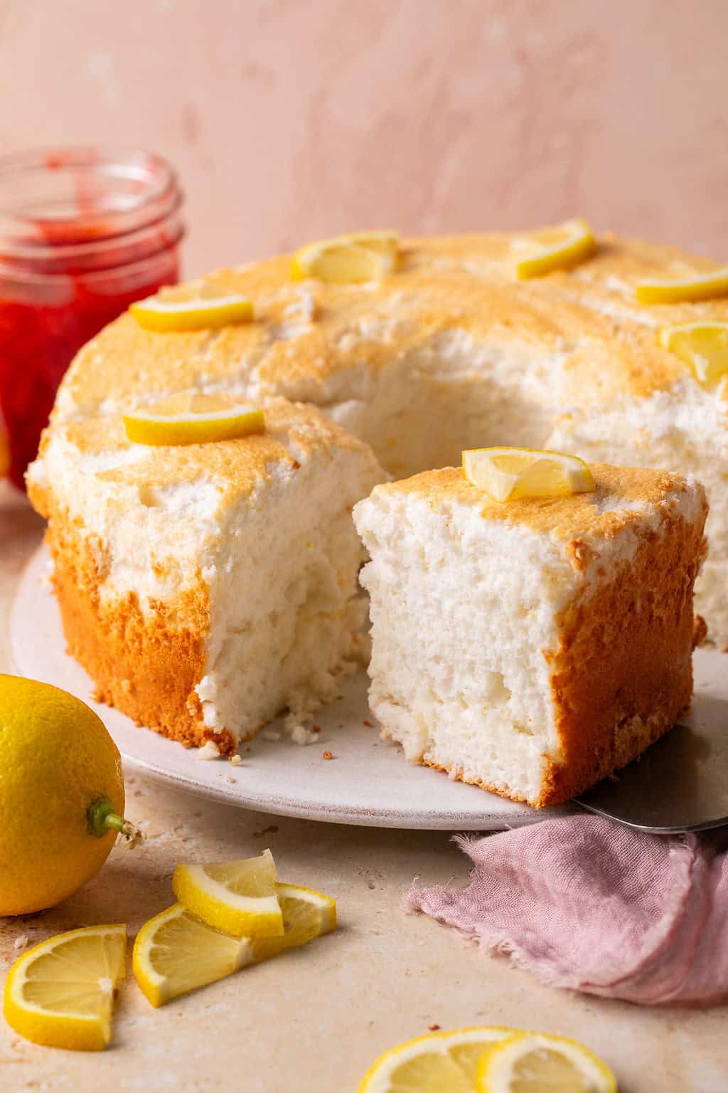
{"type": "Polygon", "coordinates": [[[133,968],[153,1006],[164,1006],[239,968],[306,944],[336,927],[336,904],[321,892],[276,884],[284,935],[234,938],[213,929],[176,903],[146,922],[134,942],[133,968]]]}

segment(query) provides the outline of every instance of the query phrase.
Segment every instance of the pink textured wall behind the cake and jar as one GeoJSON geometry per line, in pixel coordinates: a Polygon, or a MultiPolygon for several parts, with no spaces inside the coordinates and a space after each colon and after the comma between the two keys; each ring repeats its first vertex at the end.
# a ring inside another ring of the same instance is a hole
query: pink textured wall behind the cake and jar
{"type": "Polygon", "coordinates": [[[583,214],[728,260],[727,0],[0,0],[0,149],[166,154],[187,270],[583,214]]]}

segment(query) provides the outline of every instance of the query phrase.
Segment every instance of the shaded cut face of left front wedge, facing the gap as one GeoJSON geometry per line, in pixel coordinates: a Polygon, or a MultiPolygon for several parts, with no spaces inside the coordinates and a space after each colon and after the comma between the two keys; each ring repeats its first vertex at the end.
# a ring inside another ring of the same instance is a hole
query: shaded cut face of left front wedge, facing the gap
{"type": "Polygon", "coordinates": [[[274,473],[264,504],[229,514],[224,562],[208,574],[212,624],[195,689],[208,728],[246,739],[287,708],[294,739],[306,742],[300,722],[335,696],[337,675],[362,667],[363,551],[351,524],[362,487],[359,460],[342,453],[274,473]]]}

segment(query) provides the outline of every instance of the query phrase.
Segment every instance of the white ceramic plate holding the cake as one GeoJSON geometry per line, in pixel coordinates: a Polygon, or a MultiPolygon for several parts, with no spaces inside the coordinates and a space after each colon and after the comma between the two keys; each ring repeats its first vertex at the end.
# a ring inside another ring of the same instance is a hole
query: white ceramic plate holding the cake
{"type": "MultiPolygon", "coordinates": [[[[91,700],[89,677],[65,653],[48,567],[41,546],[21,579],[10,620],[15,669],[87,702],[103,718],[127,767],[240,808],[370,827],[499,831],[570,811],[536,812],[407,763],[398,745],[379,739],[363,672],[345,681],[342,697],[317,715],[321,732],[315,743],[295,744],[274,722],[271,728],[281,731],[281,739],[258,737],[241,744],[238,766],[222,759],[200,760],[195,750],[138,728],[124,714],[91,700]],[[324,760],[324,751],[334,759],[324,760]]],[[[727,675],[721,654],[695,654],[696,693],[715,694],[717,687],[728,694],[727,675]]]]}

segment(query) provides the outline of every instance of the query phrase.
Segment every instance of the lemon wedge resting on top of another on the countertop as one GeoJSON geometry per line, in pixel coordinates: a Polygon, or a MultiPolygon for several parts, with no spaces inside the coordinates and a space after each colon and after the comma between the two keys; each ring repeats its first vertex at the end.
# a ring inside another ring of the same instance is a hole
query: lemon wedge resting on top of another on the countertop
{"type": "Polygon", "coordinates": [[[259,858],[177,866],[171,886],[180,903],[207,926],[236,938],[283,937],[270,850],[259,858]]]}

